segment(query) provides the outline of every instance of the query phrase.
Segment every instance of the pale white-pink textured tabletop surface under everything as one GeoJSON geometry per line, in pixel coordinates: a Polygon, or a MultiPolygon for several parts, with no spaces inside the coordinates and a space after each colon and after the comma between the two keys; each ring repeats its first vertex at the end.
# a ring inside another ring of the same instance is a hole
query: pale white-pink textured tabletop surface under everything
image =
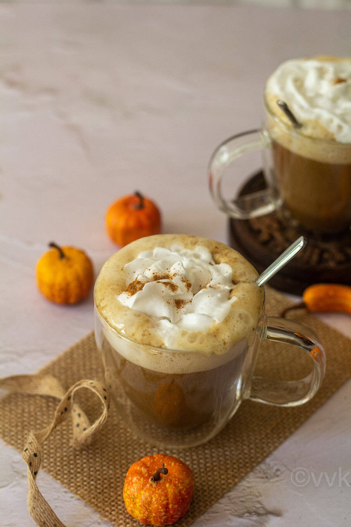
{"type": "MultiPolygon", "coordinates": [[[[152,197],[164,232],[226,242],[210,153],[259,125],[280,62],[351,55],[350,27],[350,12],[0,4],[0,376],[35,372],[92,329],[92,294],[50,304],[34,267],[55,240],[85,249],[97,273],[115,251],[104,212],[118,196],[152,197]]],[[[349,316],[324,318],[351,337],[349,316]]],[[[348,382],[194,525],[350,525],[350,403],[348,382]]],[[[0,442],[0,460],[0,525],[31,527],[21,455],[0,442]]],[[[44,472],[38,485],[69,527],[109,525],[44,472]]]]}

